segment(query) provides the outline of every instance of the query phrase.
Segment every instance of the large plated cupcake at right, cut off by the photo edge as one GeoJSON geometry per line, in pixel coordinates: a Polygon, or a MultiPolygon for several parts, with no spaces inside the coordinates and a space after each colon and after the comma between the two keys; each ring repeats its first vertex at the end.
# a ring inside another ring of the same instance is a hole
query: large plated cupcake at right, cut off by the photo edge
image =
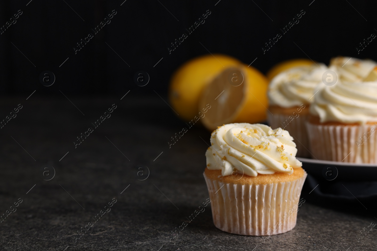
{"type": "Polygon", "coordinates": [[[377,163],[377,81],[320,85],[307,122],[318,160],[377,163]]]}

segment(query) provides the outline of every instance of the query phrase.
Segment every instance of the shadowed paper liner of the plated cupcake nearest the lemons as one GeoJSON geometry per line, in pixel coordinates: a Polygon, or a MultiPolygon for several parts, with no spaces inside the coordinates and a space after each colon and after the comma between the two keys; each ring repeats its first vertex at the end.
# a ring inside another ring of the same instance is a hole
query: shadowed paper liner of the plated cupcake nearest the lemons
{"type": "Polygon", "coordinates": [[[275,128],[282,128],[287,130],[294,138],[297,148],[297,157],[310,157],[309,139],[305,122],[308,120],[308,115],[300,114],[299,117],[294,118],[293,115],[267,113],[268,124],[275,128]],[[293,118],[293,120],[290,120],[293,118]]]}

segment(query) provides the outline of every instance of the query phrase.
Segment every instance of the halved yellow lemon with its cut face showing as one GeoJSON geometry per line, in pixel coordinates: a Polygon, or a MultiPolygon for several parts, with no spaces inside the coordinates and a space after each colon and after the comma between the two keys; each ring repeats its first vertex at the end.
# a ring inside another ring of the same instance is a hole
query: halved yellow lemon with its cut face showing
{"type": "Polygon", "coordinates": [[[228,67],[203,90],[199,111],[208,108],[201,119],[214,130],[223,124],[257,123],[266,119],[267,78],[256,68],[238,65],[228,67]]]}

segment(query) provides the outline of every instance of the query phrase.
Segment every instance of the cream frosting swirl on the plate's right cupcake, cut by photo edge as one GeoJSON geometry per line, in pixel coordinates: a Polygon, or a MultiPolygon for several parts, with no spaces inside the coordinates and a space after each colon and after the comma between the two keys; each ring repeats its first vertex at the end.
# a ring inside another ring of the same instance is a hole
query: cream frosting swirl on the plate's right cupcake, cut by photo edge
{"type": "Polygon", "coordinates": [[[360,123],[377,121],[377,81],[338,82],[319,85],[310,113],[320,122],[360,123]]]}

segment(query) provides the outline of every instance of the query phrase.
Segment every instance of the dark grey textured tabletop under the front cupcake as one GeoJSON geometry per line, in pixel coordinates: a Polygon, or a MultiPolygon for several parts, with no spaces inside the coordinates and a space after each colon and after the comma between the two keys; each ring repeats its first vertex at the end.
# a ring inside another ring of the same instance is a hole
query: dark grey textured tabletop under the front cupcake
{"type": "Polygon", "coordinates": [[[377,227],[358,240],[377,222],[363,216],[361,205],[344,213],[311,204],[310,194],[288,233],[222,232],[208,206],[169,242],[172,230],[208,198],[202,173],[210,132],[188,128],[157,95],[120,98],[71,97],[74,105],[65,97],[2,99],[1,120],[18,104],[22,108],[0,129],[1,214],[22,202],[0,224],[1,250],[377,249],[377,227]],[[95,128],[92,123],[114,103],[111,117],[95,128]],[[93,131],[75,146],[89,127],[93,131]],[[188,131],[169,148],[183,127],[188,131]],[[76,239],[89,221],[95,224],[76,239]]]}

